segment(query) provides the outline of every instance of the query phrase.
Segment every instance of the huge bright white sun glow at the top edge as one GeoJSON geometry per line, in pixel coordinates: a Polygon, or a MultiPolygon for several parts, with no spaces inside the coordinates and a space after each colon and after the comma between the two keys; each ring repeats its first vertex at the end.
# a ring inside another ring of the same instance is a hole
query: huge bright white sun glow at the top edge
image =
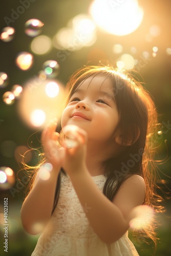
{"type": "Polygon", "coordinates": [[[136,0],[115,1],[94,0],[90,6],[90,14],[97,26],[114,35],[127,35],[135,31],[143,19],[143,10],[136,0]]]}

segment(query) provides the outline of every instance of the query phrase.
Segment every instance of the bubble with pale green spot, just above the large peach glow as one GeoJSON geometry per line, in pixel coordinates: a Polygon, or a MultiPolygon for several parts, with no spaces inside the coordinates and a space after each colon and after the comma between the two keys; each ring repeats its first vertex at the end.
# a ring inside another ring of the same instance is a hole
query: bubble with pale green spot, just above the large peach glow
{"type": "Polygon", "coordinates": [[[59,74],[59,64],[56,60],[45,61],[42,69],[48,78],[55,78],[59,74]]]}

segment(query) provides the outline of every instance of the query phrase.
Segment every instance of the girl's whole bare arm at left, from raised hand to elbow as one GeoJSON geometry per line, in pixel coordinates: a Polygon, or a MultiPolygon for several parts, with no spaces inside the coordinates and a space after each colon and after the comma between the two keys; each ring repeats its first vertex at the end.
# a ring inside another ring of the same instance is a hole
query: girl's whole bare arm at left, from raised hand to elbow
{"type": "Polygon", "coordinates": [[[34,225],[46,224],[52,213],[56,182],[64,157],[63,148],[58,148],[56,140],[59,134],[55,133],[56,122],[51,123],[41,135],[44,144],[45,156],[52,165],[47,180],[41,178],[41,168],[36,175],[35,183],[25,199],[21,209],[21,219],[25,230],[30,234],[37,234],[34,225]]]}

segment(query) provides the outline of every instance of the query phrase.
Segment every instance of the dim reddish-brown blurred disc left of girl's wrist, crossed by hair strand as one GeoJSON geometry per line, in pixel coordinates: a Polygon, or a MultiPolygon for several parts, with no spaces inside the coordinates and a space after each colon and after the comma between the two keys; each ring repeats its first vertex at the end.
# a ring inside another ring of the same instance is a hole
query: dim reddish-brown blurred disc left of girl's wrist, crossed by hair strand
{"type": "Polygon", "coordinates": [[[31,150],[27,146],[17,146],[14,151],[14,156],[17,162],[22,162],[24,158],[24,162],[28,163],[32,159],[31,150]]]}

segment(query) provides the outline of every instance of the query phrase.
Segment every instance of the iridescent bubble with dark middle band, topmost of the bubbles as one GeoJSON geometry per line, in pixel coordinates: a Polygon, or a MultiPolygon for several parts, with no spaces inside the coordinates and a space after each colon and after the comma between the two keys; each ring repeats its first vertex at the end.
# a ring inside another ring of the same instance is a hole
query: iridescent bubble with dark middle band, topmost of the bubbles
{"type": "Polygon", "coordinates": [[[44,26],[44,23],[40,22],[39,19],[29,19],[25,23],[25,33],[28,36],[35,37],[39,35],[42,31],[42,27],[44,26]]]}

